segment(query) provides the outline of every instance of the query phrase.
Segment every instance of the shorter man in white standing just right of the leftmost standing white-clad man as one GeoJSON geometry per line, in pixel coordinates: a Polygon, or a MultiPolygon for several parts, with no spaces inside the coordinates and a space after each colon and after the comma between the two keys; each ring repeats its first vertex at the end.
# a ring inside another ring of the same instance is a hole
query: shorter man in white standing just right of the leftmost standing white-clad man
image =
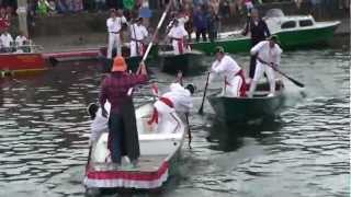
{"type": "Polygon", "coordinates": [[[143,18],[138,18],[136,23],[131,25],[131,57],[144,55],[144,43],[147,36],[148,32],[143,25],[143,18]]]}

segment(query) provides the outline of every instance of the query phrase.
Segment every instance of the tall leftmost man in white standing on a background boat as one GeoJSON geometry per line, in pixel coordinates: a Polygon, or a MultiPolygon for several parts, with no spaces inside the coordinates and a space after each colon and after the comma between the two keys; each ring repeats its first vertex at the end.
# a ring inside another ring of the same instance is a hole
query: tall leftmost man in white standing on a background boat
{"type": "Polygon", "coordinates": [[[121,30],[123,24],[128,24],[122,11],[111,9],[111,15],[106,21],[109,31],[107,58],[112,58],[113,48],[117,48],[117,56],[122,55],[121,30]]]}

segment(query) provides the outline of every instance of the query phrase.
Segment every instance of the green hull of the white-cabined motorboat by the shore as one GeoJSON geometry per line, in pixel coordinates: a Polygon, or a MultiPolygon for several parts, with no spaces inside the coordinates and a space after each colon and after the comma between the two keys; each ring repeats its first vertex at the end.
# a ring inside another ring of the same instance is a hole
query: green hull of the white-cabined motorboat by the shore
{"type": "MultiPolygon", "coordinates": [[[[297,47],[314,47],[316,45],[328,44],[339,23],[333,23],[329,26],[305,28],[295,31],[281,31],[275,33],[279,36],[281,47],[284,50],[295,49],[297,47]]],[[[214,54],[216,46],[224,47],[226,53],[249,53],[251,48],[251,40],[249,37],[241,38],[225,38],[218,39],[213,43],[200,42],[192,43],[191,46],[196,49],[204,51],[205,54],[214,54]]]]}

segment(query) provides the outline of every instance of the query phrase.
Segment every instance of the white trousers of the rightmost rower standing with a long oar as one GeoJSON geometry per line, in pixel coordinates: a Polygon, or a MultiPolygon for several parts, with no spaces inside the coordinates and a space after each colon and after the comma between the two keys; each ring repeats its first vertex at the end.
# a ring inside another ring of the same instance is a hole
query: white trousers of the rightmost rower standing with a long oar
{"type": "Polygon", "coordinates": [[[271,67],[257,61],[254,76],[253,76],[253,79],[251,81],[251,85],[250,85],[250,90],[249,90],[249,96],[253,95],[253,92],[256,90],[256,85],[257,85],[258,81],[262,78],[263,73],[267,74],[267,78],[268,78],[268,80],[270,82],[270,93],[274,94],[274,92],[275,92],[274,70],[271,67]]]}

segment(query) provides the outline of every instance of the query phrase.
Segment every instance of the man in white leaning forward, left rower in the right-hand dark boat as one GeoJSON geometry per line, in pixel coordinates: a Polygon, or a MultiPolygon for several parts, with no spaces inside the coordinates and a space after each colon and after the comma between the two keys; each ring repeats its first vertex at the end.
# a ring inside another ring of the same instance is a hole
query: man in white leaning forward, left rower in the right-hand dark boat
{"type": "Polygon", "coordinates": [[[223,96],[240,97],[246,95],[244,70],[230,56],[225,55],[224,48],[220,46],[216,47],[216,60],[211,68],[210,82],[216,76],[224,77],[223,96]]]}

